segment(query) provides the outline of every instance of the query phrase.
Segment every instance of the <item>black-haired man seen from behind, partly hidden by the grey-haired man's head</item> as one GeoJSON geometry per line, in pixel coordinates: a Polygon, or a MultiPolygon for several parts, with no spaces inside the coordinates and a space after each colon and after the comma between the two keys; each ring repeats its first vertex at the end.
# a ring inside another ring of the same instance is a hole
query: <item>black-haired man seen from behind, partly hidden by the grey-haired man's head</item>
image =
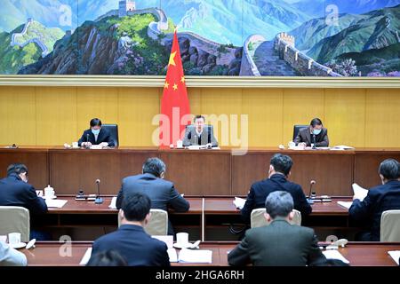
{"type": "Polygon", "coordinates": [[[269,193],[285,191],[292,194],[294,209],[299,210],[302,217],[311,213],[312,208],[308,204],[301,185],[287,180],[291,174],[292,159],[288,155],[275,154],[270,161],[268,178],[256,182],[247,194],[247,200],[241,211],[244,222],[250,224],[252,209],[262,208],[269,193]]]}

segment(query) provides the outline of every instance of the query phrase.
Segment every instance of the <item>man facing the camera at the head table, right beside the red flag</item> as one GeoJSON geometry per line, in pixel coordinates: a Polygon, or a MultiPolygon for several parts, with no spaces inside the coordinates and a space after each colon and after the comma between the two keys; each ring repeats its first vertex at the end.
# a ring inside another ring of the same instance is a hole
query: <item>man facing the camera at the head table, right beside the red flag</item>
{"type": "Polygon", "coordinates": [[[183,146],[218,146],[212,127],[205,127],[205,118],[203,115],[196,115],[193,122],[195,125],[188,125],[186,128],[185,137],[183,138],[182,143],[183,146]]]}

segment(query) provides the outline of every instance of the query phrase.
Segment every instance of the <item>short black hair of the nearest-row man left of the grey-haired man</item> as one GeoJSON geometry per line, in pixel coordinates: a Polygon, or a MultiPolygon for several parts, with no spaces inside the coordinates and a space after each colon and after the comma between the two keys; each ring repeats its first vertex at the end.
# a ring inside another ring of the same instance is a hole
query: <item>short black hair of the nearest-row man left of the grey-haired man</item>
{"type": "Polygon", "coordinates": [[[150,212],[151,201],[144,193],[132,193],[124,196],[121,209],[128,221],[143,221],[150,212]]]}

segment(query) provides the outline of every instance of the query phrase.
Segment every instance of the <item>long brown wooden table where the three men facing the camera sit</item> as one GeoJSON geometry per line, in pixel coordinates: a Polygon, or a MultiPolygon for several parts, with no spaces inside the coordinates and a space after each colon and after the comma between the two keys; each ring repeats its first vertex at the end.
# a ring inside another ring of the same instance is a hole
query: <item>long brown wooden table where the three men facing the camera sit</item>
{"type": "Polygon", "coordinates": [[[351,185],[364,188],[380,184],[377,173],[387,158],[400,160],[400,148],[356,148],[353,150],[289,150],[272,147],[249,148],[236,155],[232,148],[220,150],[158,149],[119,147],[115,149],[65,149],[61,146],[0,147],[0,176],[7,166],[23,162],[29,169],[29,182],[42,189],[52,185],[57,194],[96,193],[100,179],[102,194],[116,195],[123,177],[139,174],[149,157],[161,158],[166,176],[185,195],[246,195],[255,181],[268,176],[273,154],[289,154],[293,160],[292,182],[308,194],[310,180],[318,195],[350,196],[351,185]]]}

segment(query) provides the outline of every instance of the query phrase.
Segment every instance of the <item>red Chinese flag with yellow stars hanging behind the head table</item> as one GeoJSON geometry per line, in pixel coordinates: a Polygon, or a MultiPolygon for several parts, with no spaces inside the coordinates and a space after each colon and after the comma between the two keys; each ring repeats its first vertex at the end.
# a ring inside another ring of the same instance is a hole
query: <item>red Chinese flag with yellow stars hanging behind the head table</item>
{"type": "Polygon", "coordinates": [[[188,91],[180,59],[180,44],[175,30],[161,101],[160,147],[176,145],[176,141],[183,138],[190,119],[188,91]]]}

